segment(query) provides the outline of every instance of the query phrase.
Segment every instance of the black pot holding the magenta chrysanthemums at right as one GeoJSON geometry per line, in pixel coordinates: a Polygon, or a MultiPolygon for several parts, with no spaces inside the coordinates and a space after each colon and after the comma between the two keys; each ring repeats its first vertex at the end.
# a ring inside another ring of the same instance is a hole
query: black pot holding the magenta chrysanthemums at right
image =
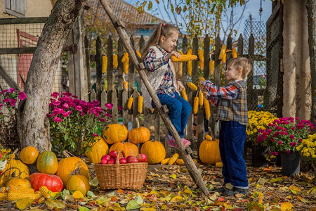
{"type": "Polygon", "coordinates": [[[300,173],[300,153],[280,153],[282,174],[284,176],[294,176],[300,173]]]}

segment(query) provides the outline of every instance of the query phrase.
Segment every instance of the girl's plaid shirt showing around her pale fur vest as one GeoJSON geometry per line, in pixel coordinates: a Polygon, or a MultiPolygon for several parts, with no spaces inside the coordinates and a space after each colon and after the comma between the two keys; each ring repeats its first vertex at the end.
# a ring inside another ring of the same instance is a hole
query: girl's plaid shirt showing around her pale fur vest
{"type": "Polygon", "coordinates": [[[168,65],[168,71],[166,71],[166,73],[164,74],[164,79],[162,79],[162,83],[155,91],[156,94],[168,94],[169,96],[172,96],[174,98],[176,97],[174,94],[174,92],[176,91],[176,87],[174,87],[174,85],[172,84],[173,74],[170,69],[169,59],[167,58],[168,52],[158,45],[157,49],[159,49],[159,51],[162,51],[162,54],[164,56],[162,56],[161,58],[156,58],[156,53],[154,52],[154,49],[150,49],[147,53],[147,56],[145,57],[145,68],[147,68],[147,70],[150,72],[154,72],[163,65],[168,65]]]}

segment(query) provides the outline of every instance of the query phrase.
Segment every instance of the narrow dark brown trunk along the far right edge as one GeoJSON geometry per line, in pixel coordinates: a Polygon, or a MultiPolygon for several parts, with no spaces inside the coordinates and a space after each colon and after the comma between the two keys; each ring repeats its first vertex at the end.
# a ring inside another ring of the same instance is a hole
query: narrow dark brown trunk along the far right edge
{"type": "Polygon", "coordinates": [[[308,13],[308,46],[310,50],[310,75],[312,80],[312,114],[310,120],[316,123],[316,1],[307,0],[306,8],[308,13]]]}

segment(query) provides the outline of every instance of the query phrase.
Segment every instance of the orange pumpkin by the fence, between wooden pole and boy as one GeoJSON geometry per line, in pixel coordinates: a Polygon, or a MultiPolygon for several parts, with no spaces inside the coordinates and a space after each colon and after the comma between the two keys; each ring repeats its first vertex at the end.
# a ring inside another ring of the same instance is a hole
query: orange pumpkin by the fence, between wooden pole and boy
{"type": "Polygon", "coordinates": [[[220,162],[220,151],[219,151],[219,140],[216,139],[213,141],[211,136],[206,136],[206,139],[202,141],[199,146],[199,160],[201,160],[204,164],[216,164],[216,162],[220,162]]]}

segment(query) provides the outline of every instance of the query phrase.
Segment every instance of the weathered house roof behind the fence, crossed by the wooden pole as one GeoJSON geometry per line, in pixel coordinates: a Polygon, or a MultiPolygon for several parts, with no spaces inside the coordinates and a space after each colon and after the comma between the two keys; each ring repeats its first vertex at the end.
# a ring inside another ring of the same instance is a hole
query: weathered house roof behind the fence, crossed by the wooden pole
{"type": "MultiPolygon", "coordinates": [[[[165,22],[150,13],[138,13],[138,8],[136,8],[136,6],[133,6],[123,0],[108,1],[111,4],[113,13],[127,25],[133,25],[134,27],[137,26],[138,28],[146,28],[165,22]]],[[[88,0],[86,4],[87,6],[90,6],[90,10],[100,13],[99,17],[104,19],[104,21],[110,21],[99,0],[88,0]]]]}

